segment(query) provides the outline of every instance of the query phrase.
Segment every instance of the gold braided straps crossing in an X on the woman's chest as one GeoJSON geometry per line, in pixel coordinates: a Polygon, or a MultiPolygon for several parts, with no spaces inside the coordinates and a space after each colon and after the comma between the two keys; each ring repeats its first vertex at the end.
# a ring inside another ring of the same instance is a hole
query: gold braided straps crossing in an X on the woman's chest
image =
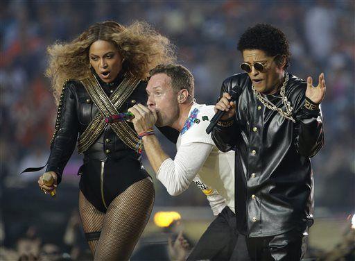
{"type": "MultiPolygon", "coordinates": [[[[133,77],[123,79],[122,83],[112,94],[112,100],[110,100],[94,76],[90,76],[81,81],[98,108],[98,113],[89,126],[87,126],[83,134],[80,135],[78,140],[78,153],[83,153],[96,141],[107,126],[104,117],[118,114],[119,112],[116,108],[121,107],[123,102],[128,99],[130,94],[135,90],[139,82],[140,79],[133,77]]],[[[135,149],[139,139],[137,133],[130,128],[127,122],[115,122],[111,124],[111,127],[127,146],[130,146],[131,149],[135,149]]]]}

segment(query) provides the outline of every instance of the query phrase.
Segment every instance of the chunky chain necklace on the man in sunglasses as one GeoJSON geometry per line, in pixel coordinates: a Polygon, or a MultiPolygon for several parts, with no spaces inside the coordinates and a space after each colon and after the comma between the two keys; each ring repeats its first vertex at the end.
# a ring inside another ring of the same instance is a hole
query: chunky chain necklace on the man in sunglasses
{"type": "Polygon", "coordinates": [[[257,90],[255,90],[254,85],[252,85],[252,91],[257,96],[257,99],[259,99],[259,101],[261,101],[261,103],[263,103],[263,105],[266,106],[266,108],[268,108],[270,110],[275,110],[275,111],[279,112],[279,115],[281,115],[282,117],[289,119],[293,122],[296,122],[295,119],[293,119],[293,117],[292,117],[293,107],[291,106],[290,101],[288,101],[286,93],[285,93],[287,83],[288,83],[288,73],[286,73],[286,71],[285,71],[285,81],[282,84],[280,94],[282,97],[282,103],[284,103],[286,111],[282,110],[281,108],[278,108],[277,106],[275,106],[274,103],[272,103],[268,99],[264,98],[260,92],[257,92],[257,90]]]}

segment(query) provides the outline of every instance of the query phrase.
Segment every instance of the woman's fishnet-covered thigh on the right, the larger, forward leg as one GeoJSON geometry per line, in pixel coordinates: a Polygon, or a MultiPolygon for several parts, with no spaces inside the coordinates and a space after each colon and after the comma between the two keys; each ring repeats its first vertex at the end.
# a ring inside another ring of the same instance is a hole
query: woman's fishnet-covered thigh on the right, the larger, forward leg
{"type": "Polygon", "coordinates": [[[152,212],[151,178],[128,187],[107,208],[94,260],[128,260],[152,212]]]}

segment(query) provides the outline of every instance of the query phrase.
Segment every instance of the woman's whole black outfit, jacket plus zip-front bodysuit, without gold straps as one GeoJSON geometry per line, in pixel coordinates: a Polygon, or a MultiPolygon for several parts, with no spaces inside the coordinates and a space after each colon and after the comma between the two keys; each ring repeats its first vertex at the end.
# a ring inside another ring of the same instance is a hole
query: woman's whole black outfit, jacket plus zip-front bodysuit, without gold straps
{"type": "MultiPolygon", "coordinates": [[[[109,97],[123,77],[119,74],[112,83],[104,83],[96,76],[109,97]]],[[[146,100],[146,82],[141,81],[118,110],[126,112],[136,103],[145,105],[146,100]]],[[[46,168],[46,171],[54,171],[58,175],[58,184],[78,135],[83,133],[98,112],[83,84],[73,80],[68,81],[63,89],[60,108],[46,168]]],[[[132,124],[130,126],[134,130],[132,124]]],[[[162,128],[161,131],[173,142],[178,137],[178,132],[171,128],[162,128]]],[[[78,174],[81,176],[81,192],[101,212],[106,212],[111,201],[130,185],[148,176],[141,165],[140,154],[122,142],[110,124],[107,124],[96,142],[84,151],[84,164],[78,174]]]]}

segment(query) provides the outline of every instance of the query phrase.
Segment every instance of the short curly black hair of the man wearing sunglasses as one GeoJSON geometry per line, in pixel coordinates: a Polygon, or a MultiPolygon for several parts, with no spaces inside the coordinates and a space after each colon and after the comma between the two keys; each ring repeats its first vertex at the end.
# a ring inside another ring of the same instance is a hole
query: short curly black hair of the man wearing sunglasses
{"type": "Polygon", "coordinates": [[[275,62],[282,64],[282,56],[286,58],[284,68],[290,63],[290,44],[286,35],[279,29],[270,24],[256,24],[249,27],[238,42],[238,50],[243,53],[247,49],[258,49],[264,51],[267,56],[277,56],[275,62]]]}

